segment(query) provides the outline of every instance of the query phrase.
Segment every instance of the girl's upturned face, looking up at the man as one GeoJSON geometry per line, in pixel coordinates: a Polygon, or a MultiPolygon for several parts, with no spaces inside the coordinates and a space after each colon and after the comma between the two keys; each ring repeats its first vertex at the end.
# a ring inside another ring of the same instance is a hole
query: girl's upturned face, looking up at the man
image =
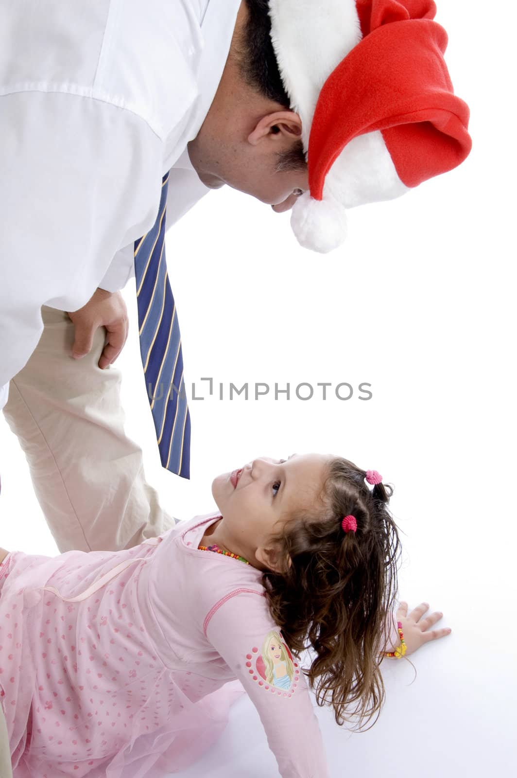
{"type": "Polygon", "coordinates": [[[330,454],[292,454],[287,460],[258,457],[218,475],[211,490],[222,515],[220,539],[225,547],[239,549],[252,564],[258,562],[255,566],[273,568],[271,536],[296,510],[320,506],[330,459],[330,454]]]}

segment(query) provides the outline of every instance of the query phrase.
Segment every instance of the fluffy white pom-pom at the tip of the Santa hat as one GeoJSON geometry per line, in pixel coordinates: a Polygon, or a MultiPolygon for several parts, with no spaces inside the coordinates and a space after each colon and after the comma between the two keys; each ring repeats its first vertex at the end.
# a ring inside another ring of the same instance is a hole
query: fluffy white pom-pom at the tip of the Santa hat
{"type": "Polygon", "coordinates": [[[334,198],[315,200],[307,191],[293,205],[291,226],[301,246],[327,254],[347,237],[347,212],[334,198]]]}

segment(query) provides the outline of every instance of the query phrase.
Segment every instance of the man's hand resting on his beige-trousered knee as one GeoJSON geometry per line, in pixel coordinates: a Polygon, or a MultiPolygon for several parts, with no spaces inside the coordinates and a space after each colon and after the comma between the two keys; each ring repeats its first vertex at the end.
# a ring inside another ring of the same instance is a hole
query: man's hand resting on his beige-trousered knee
{"type": "Polygon", "coordinates": [[[93,343],[97,328],[105,327],[107,341],[100,356],[99,367],[114,363],[128,338],[128,310],[120,292],[97,289],[85,306],[68,316],[75,324],[75,340],[72,356],[80,359],[86,356],[93,343]]]}

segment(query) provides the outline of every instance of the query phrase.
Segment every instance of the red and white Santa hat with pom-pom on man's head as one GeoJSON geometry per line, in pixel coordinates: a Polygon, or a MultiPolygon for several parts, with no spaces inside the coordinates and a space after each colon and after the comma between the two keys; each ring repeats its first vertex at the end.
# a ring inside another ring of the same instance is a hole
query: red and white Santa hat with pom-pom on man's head
{"type": "Polygon", "coordinates": [[[469,109],[453,93],[431,0],[269,5],[309,166],[291,224],[302,246],[325,253],[346,237],[348,208],[399,197],[462,163],[469,109]]]}

